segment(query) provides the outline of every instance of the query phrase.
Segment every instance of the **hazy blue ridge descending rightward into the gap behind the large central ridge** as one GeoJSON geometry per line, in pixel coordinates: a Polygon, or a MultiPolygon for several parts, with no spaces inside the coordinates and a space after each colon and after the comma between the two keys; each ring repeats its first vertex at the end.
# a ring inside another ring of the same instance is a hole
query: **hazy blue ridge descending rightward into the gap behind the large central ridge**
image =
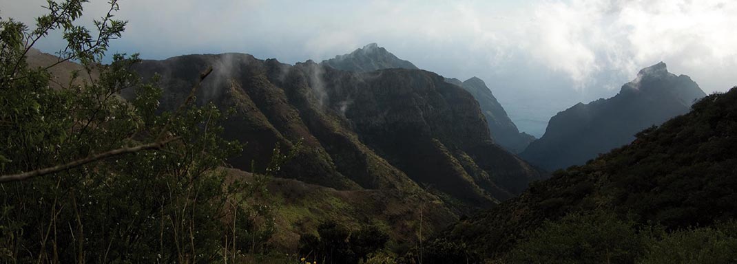
{"type": "Polygon", "coordinates": [[[499,104],[499,101],[492,94],[492,90],[486,87],[483,80],[472,77],[464,82],[455,78],[446,79],[446,81],[464,88],[478,101],[481,112],[486,118],[486,123],[489,124],[489,132],[492,133],[492,138],[500,146],[513,153],[520,153],[535,140],[532,135],[520,132],[517,129],[504,107],[499,104]]]}

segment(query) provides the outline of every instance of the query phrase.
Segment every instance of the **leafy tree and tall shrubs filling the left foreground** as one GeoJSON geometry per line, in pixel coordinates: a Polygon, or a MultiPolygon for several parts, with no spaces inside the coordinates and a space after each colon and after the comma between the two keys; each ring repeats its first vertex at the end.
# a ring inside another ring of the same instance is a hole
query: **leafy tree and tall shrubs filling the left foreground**
{"type": "MultiPolygon", "coordinates": [[[[223,140],[212,104],[191,106],[195,90],[173,112],[159,109],[162,90],[130,70],[136,54],[101,63],[126,21],[119,10],[77,25],[84,0],[49,0],[32,31],[0,22],[0,262],[209,263],[236,257],[248,196],[263,189],[221,169],[240,143],[223,140]],[[52,30],[66,48],[52,65],[31,68],[26,54],[52,30]],[[79,72],[49,88],[49,68],[73,60],[79,72]],[[81,83],[81,84],[80,84],[81,83]],[[121,90],[135,90],[122,99],[121,90]],[[240,213],[239,213],[240,212],[240,213]],[[235,226],[235,227],[231,227],[235,226]],[[230,240],[228,240],[229,238],[230,240]]],[[[212,69],[203,69],[200,82],[212,69]]],[[[288,155],[275,151],[270,168],[288,155]]],[[[271,169],[270,171],[276,171],[271,169]]]]}

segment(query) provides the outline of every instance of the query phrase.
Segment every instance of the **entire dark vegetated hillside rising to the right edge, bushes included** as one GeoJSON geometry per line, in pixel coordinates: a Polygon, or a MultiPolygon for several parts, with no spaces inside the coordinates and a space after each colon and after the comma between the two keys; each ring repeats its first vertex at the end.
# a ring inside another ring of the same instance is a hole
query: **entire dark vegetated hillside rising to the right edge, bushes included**
{"type": "Polygon", "coordinates": [[[737,245],[736,133],[733,88],[639,132],[627,146],[461,220],[436,246],[451,241],[467,247],[450,255],[472,252],[512,263],[587,262],[584,256],[730,263],[737,257],[727,254],[737,245]]]}

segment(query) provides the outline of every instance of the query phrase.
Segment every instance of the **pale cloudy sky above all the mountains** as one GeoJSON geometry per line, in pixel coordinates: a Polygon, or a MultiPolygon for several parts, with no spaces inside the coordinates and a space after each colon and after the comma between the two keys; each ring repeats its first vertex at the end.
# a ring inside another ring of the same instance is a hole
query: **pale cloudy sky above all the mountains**
{"type": "MultiPolygon", "coordinates": [[[[85,4],[80,23],[105,14],[85,4]]],[[[43,0],[0,0],[0,17],[32,25],[43,0]]],[[[378,43],[442,76],[478,76],[520,130],[608,98],[660,61],[706,93],[737,85],[737,1],[120,0],[128,21],[110,52],[146,59],[242,52],[282,63],[321,61],[378,43]]],[[[58,34],[38,43],[58,51],[58,34]]]]}

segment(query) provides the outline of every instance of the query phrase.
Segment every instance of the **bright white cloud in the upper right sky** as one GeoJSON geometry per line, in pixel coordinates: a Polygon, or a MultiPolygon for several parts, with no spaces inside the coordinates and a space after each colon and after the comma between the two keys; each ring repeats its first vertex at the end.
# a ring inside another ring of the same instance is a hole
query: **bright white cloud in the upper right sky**
{"type": "Polygon", "coordinates": [[[736,81],[728,74],[737,66],[735,1],[573,0],[534,10],[531,38],[520,42],[528,43],[540,63],[577,83],[607,70],[635,76],[659,61],[705,81],[708,90],[725,90],[736,81]],[[721,76],[709,74],[715,68],[721,76]],[[720,82],[722,87],[713,87],[720,82]]]}

